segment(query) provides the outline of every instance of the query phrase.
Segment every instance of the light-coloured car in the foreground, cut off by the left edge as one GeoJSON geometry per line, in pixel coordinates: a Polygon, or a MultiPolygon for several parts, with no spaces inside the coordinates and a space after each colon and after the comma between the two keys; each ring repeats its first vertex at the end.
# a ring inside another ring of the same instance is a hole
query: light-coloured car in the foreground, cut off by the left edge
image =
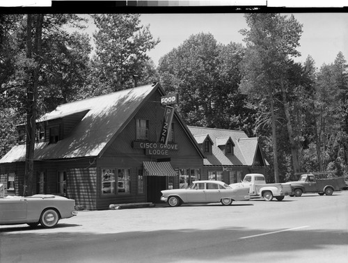
{"type": "Polygon", "coordinates": [[[0,225],[39,223],[44,228],[54,227],[62,218],[76,216],[75,201],[63,196],[34,195],[0,198],[0,225]]]}

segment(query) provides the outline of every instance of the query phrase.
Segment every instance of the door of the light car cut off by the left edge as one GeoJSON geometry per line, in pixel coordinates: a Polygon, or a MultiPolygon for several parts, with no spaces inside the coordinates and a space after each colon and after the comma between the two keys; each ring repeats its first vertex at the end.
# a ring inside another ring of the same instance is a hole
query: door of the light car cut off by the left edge
{"type": "Polygon", "coordinates": [[[26,219],[27,201],[25,198],[6,198],[0,200],[0,222],[16,223],[26,219]]]}

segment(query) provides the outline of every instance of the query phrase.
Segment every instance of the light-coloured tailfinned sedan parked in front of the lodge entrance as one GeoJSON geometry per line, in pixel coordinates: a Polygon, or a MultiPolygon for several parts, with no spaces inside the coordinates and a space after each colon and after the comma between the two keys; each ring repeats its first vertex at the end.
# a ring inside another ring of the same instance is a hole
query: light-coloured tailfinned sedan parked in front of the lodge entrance
{"type": "Polygon", "coordinates": [[[221,181],[194,181],[186,189],[170,189],[161,191],[161,201],[168,202],[171,207],[183,203],[221,202],[231,205],[233,201],[248,200],[248,189],[232,189],[221,181]]]}

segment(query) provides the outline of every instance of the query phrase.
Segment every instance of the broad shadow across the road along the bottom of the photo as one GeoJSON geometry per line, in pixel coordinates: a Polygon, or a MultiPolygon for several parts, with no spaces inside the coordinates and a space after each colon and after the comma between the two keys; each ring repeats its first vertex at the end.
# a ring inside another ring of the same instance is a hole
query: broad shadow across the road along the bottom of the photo
{"type": "Polygon", "coordinates": [[[282,230],[177,229],[111,234],[74,232],[74,228],[61,231],[72,226],[61,224],[51,233],[26,233],[26,228],[17,228],[21,231],[20,239],[14,228],[3,228],[3,262],[21,262],[23,258],[26,262],[63,262],[64,258],[71,262],[219,262],[232,257],[256,259],[261,253],[324,253],[327,246],[348,246],[348,233],[336,230],[303,228],[272,234],[269,233],[282,230]]]}

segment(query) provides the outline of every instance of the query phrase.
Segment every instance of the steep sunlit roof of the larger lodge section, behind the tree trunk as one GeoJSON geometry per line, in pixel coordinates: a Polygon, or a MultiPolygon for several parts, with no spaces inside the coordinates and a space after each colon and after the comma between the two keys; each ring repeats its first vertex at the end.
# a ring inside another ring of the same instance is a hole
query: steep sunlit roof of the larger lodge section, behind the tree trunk
{"type": "MultiPolygon", "coordinates": [[[[159,84],[154,84],[58,106],[38,122],[82,111],[86,111],[86,115],[63,140],[49,145],[35,143],[34,159],[64,159],[101,154],[157,88],[164,93],[159,84]]],[[[24,161],[25,148],[25,145],[15,145],[0,163],[24,161]]]]}

